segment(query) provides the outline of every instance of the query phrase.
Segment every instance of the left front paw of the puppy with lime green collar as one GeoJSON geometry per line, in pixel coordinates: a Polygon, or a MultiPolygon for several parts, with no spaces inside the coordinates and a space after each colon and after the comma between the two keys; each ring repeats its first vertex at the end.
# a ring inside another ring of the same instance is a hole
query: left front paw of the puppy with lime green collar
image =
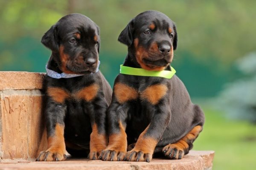
{"type": "Polygon", "coordinates": [[[125,151],[120,150],[103,150],[99,159],[103,161],[122,161],[125,157],[125,151]]]}

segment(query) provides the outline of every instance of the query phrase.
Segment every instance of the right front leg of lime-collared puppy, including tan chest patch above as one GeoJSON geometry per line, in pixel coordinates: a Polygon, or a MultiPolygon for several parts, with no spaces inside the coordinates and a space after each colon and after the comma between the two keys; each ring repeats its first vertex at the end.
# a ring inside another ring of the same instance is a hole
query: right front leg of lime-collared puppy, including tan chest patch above
{"type": "Polygon", "coordinates": [[[151,118],[149,125],[140,134],[135,147],[125,155],[125,161],[151,161],[154,149],[171,120],[168,88],[164,84],[151,85],[140,93],[151,118]]]}

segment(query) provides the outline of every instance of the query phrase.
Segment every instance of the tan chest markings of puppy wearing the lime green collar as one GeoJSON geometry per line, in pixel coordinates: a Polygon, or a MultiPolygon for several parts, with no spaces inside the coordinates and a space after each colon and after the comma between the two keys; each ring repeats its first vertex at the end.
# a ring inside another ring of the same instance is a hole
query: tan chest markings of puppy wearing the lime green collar
{"type": "Polygon", "coordinates": [[[160,99],[167,94],[168,88],[165,84],[139,85],[132,87],[121,82],[114,86],[114,94],[119,103],[140,99],[156,105],[160,99]]]}

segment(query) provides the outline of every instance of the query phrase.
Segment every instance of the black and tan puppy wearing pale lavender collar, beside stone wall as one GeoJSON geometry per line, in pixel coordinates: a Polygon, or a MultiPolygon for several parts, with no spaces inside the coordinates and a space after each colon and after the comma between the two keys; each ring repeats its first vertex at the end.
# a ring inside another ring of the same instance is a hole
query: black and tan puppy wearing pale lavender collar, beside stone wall
{"type": "Polygon", "coordinates": [[[112,90],[99,67],[99,28],[82,14],[62,17],[42,37],[52,50],[44,80],[48,149],[37,161],[97,159],[107,146],[106,110],[112,90]]]}

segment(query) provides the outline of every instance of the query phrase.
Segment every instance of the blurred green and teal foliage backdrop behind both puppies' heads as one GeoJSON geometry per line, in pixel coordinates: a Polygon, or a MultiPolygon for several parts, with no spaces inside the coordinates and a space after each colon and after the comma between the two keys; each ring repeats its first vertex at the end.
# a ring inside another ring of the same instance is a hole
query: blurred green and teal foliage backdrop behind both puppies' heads
{"type": "Polygon", "coordinates": [[[127,51],[119,33],[140,12],[158,10],[177,24],[177,75],[192,97],[214,96],[237,78],[233,60],[256,50],[255,6],[255,0],[0,0],[0,70],[44,72],[50,51],[42,35],[78,12],[101,28],[100,69],[113,85],[127,51]]]}

